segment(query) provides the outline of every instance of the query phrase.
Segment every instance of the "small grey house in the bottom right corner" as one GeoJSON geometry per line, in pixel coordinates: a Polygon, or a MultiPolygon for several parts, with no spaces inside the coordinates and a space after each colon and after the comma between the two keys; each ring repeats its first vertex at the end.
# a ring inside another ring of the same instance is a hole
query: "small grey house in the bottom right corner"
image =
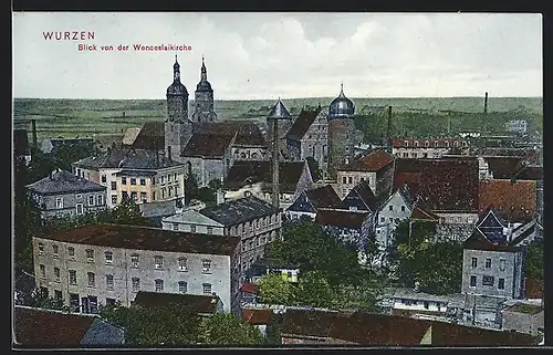
{"type": "Polygon", "coordinates": [[[517,302],[501,311],[501,328],[534,336],[545,328],[542,305],[517,302]]]}

